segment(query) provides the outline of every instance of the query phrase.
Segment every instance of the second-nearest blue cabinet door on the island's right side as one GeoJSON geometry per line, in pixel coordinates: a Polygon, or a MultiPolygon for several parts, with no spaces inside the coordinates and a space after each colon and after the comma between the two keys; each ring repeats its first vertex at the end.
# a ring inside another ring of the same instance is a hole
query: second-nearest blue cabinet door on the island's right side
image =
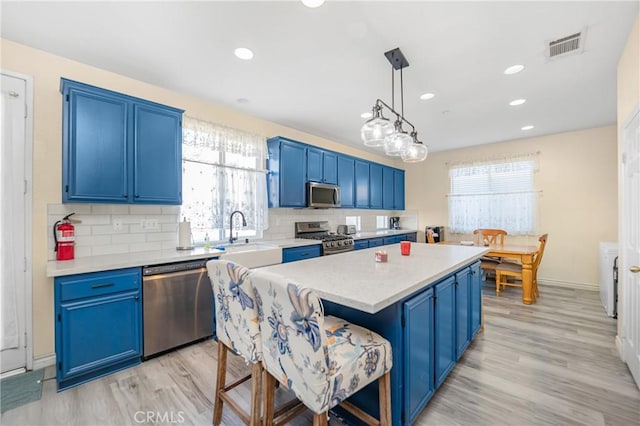
{"type": "Polygon", "coordinates": [[[456,363],[455,277],[435,285],[435,384],[440,387],[456,363]]]}

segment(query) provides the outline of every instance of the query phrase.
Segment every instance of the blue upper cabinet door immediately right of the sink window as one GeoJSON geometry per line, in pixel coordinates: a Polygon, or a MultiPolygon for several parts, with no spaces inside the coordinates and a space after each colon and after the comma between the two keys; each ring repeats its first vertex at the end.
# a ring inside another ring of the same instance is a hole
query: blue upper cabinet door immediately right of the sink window
{"type": "Polygon", "coordinates": [[[306,148],[293,142],[280,143],[280,207],[305,207],[306,148]]]}

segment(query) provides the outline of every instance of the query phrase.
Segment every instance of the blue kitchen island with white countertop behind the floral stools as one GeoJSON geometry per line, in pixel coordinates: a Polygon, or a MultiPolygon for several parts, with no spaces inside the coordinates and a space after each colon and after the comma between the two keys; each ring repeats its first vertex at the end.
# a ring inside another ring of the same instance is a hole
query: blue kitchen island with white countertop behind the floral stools
{"type": "MultiPolygon", "coordinates": [[[[262,268],[313,289],[325,314],[367,327],[393,348],[391,407],[394,425],[411,424],[480,329],[483,247],[385,246],[262,268]]],[[[378,416],[372,384],[351,401],[378,416]]],[[[347,420],[350,419],[345,413],[347,420]]],[[[357,422],[354,422],[357,423],[357,422]]]]}

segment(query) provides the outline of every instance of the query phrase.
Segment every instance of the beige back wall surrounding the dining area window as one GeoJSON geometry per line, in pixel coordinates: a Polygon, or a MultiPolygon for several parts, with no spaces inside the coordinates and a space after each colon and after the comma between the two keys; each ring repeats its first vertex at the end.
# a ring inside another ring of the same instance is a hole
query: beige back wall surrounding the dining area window
{"type": "MultiPolygon", "coordinates": [[[[424,225],[447,225],[447,163],[540,152],[535,176],[539,231],[549,233],[539,279],[597,288],[598,243],[617,241],[615,126],[430,154],[407,171],[407,209],[424,225]]],[[[424,238],[421,236],[421,238],[424,238]]],[[[536,237],[512,237],[537,244],[536,237]]],[[[470,239],[453,235],[449,239],[470,239]]]]}

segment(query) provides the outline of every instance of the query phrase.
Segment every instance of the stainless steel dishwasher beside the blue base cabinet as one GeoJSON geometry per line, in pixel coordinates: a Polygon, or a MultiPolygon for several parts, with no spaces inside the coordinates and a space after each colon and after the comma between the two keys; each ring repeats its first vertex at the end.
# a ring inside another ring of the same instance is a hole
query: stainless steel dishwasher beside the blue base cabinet
{"type": "Polygon", "coordinates": [[[142,268],[143,357],[213,335],[207,260],[142,268]]]}

